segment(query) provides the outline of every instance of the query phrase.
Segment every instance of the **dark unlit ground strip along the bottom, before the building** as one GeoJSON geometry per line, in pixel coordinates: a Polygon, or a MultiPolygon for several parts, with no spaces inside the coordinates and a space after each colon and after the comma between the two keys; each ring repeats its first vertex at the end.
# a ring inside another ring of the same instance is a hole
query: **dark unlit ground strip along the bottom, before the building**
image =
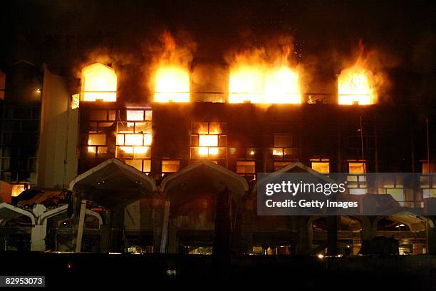
{"type": "Polygon", "coordinates": [[[205,255],[0,252],[0,275],[45,275],[46,287],[57,290],[151,290],[167,284],[189,285],[190,290],[231,290],[234,284],[291,290],[436,290],[436,256],[250,255],[218,261],[205,255]]]}

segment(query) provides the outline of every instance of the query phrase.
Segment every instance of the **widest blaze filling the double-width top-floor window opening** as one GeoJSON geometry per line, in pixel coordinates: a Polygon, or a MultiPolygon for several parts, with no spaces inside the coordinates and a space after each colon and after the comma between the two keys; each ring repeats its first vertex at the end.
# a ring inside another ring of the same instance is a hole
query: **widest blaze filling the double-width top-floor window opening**
{"type": "Polygon", "coordinates": [[[286,54],[279,61],[267,63],[253,56],[237,57],[230,69],[229,103],[299,104],[299,73],[287,65],[286,54]]]}

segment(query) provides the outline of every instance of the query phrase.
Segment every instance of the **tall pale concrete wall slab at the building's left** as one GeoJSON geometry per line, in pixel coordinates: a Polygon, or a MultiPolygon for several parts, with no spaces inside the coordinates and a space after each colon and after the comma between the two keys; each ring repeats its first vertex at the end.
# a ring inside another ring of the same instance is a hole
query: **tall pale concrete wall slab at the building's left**
{"type": "Polygon", "coordinates": [[[77,175],[78,109],[66,79],[44,68],[37,185],[63,189],[77,175]]]}

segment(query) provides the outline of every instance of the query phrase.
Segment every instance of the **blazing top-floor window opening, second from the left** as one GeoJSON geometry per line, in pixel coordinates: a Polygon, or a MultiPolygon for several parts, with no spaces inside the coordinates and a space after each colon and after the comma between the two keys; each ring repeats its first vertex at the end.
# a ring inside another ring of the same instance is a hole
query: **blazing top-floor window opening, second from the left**
{"type": "Polygon", "coordinates": [[[187,69],[175,65],[157,68],[155,102],[190,102],[190,75],[187,69]]]}

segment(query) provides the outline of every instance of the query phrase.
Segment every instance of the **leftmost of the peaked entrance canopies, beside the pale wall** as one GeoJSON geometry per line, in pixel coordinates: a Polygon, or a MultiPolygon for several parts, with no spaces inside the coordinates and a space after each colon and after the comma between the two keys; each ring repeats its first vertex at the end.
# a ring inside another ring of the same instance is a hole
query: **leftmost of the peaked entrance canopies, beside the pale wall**
{"type": "Polygon", "coordinates": [[[157,193],[155,180],[116,158],[78,175],[68,189],[108,208],[157,193]]]}

